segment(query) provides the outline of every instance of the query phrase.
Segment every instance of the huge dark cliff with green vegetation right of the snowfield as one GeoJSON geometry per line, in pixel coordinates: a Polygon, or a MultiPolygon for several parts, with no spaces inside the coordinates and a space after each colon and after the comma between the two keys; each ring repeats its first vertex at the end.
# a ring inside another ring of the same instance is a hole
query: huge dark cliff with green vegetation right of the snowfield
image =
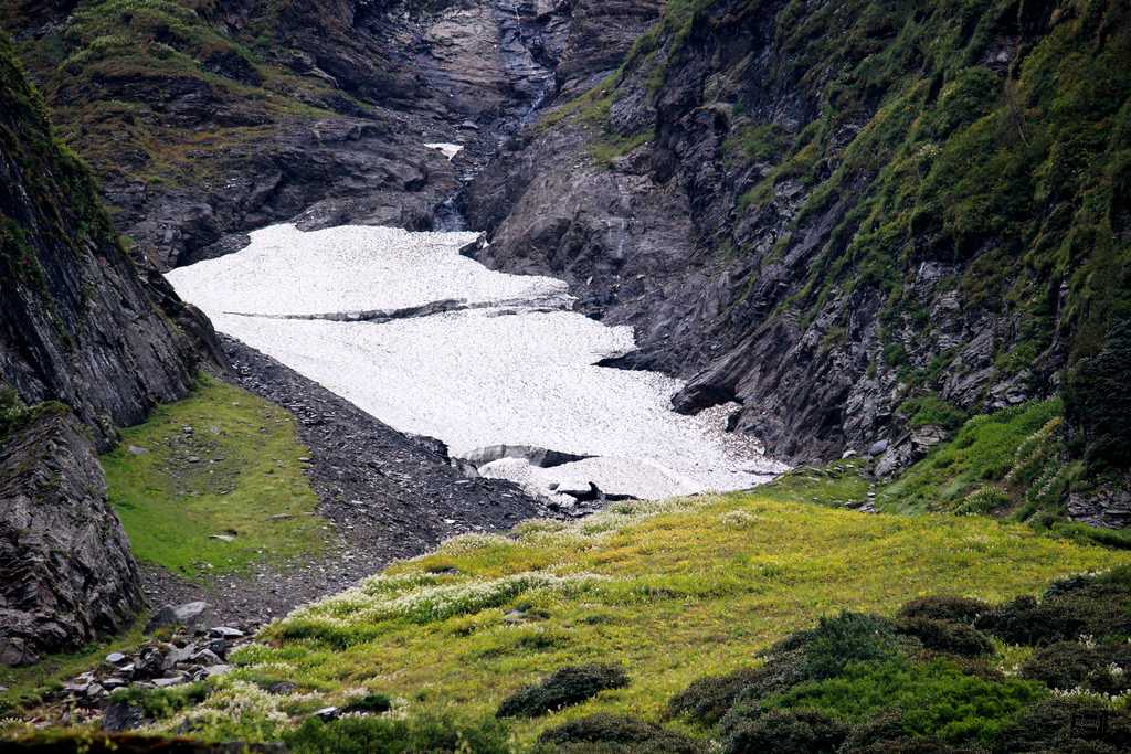
{"type": "Polygon", "coordinates": [[[637,326],[677,410],[890,473],[1114,347],[1129,55],[1111,0],[673,0],[473,182],[478,258],[637,326]]]}

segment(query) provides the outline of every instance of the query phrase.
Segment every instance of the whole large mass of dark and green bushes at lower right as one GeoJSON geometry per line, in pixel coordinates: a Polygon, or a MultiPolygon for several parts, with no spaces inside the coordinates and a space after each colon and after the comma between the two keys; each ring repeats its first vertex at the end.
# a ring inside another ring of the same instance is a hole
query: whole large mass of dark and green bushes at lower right
{"type": "Polygon", "coordinates": [[[845,613],[775,644],[761,667],[701,678],[668,713],[739,754],[1113,754],[1131,746],[1131,567],[990,605],[912,600],[895,619],[845,613]],[[1033,647],[991,669],[999,639],[1033,647]],[[1082,636],[1094,632],[1091,636],[1082,636]]]}

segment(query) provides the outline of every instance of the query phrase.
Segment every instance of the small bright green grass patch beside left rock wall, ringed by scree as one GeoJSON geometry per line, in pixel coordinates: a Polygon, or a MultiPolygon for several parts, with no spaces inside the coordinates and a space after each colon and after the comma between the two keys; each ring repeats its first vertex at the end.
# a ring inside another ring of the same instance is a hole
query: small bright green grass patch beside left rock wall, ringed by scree
{"type": "Polygon", "coordinates": [[[316,554],[328,541],[293,417],[204,379],[103,456],[133,554],[192,579],[316,554]]]}

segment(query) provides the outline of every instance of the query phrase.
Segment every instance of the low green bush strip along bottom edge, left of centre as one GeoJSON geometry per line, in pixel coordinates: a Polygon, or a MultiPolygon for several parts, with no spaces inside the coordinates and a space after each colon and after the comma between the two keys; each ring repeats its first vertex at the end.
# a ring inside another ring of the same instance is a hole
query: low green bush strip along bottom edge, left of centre
{"type": "Polygon", "coordinates": [[[509,754],[507,728],[497,720],[466,722],[443,717],[395,720],[310,718],[286,736],[293,754],[509,754]]]}

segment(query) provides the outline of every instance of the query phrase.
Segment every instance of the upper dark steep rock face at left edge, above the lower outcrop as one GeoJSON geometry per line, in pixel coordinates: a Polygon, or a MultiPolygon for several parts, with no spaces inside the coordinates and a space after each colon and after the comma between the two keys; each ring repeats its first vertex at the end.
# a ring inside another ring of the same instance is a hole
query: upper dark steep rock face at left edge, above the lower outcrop
{"type": "Polygon", "coordinates": [[[0,69],[0,376],[27,404],[67,404],[106,447],[188,392],[210,326],[121,248],[2,40],[0,69]]]}

